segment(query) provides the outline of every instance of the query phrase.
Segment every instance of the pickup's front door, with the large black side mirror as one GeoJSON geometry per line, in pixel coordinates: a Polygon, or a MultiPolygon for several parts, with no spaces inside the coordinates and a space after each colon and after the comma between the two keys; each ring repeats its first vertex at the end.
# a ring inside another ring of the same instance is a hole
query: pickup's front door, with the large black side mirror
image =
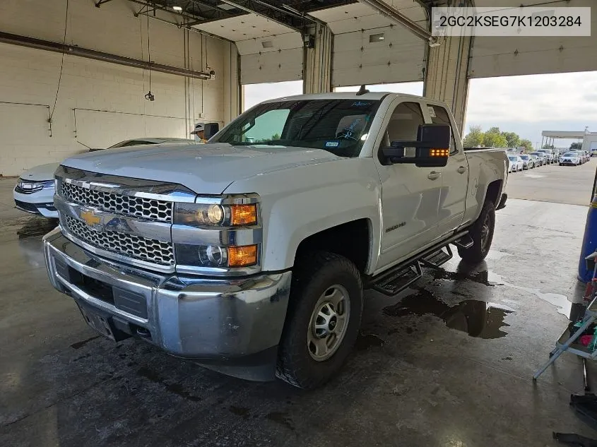
{"type": "MultiPolygon", "coordinates": [[[[403,100],[403,99],[402,99],[403,100]]],[[[384,119],[383,140],[377,150],[391,141],[416,141],[420,124],[425,124],[419,102],[392,103],[384,119]]],[[[374,152],[382,181],[382,253],[378,268],[408,258],[437,237],[437,209],[442,176],[439,168],[415,165],[382,165],[374,152]]]]}

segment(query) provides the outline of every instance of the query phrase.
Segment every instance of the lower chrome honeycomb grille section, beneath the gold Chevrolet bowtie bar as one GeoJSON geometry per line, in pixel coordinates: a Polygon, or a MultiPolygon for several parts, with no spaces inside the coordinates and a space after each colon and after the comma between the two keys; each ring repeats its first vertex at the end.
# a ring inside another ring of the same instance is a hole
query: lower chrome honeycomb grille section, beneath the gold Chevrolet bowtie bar
{"type": "Polygon", "coordinates": [[[61,222],[66,224],[66,230],[73,236],[100,249],[162,266],[173,266],[175,263],[172,242],[114,231],[98,232],[71,216],[64,216],[61,222]]]}

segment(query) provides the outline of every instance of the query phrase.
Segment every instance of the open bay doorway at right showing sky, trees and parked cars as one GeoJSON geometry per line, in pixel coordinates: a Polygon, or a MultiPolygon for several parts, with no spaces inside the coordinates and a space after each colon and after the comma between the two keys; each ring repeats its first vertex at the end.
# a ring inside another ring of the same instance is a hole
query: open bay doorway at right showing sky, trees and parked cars
{"type": "Polygon", "coordinates": [[[528,163],[509,174],[509,198],[586,205],[593,192],[596,158],[572,157],[572,152],[579,149],[581,136],[597,131],[595,91],[597,71],[472,79],[464,145],[524,147],[526,155],[540,157],[546,150],[551,160],[528,163]],[[545,141],[543,131],[578,138],[545,141]]]}

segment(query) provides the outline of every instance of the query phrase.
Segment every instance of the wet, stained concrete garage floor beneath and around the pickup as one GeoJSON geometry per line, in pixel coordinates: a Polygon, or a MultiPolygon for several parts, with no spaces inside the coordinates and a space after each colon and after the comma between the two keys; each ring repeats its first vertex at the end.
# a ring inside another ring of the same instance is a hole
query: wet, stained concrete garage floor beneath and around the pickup
{"type": "Polygon", "coordinates": [[[453,260],[396,298],[367,293],[354,354],[307,393],[98,338],[49,285],[40,241],[50,226],[11,208],[13,183],[0,180],[0,446],[551,446],[552,431],[597,436],[569,409],[582,391],[576,357],[531,380],[567,326],[567,298],[581,293],[586,206],[509,201],[482,266],[453,260]]]}

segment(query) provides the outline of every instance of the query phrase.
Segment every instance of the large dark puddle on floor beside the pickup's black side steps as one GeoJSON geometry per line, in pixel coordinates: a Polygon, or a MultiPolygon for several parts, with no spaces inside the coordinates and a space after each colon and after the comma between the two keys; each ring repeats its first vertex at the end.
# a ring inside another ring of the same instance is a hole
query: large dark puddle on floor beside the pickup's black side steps
{"type": "Polygon", "coordinates": [[[502,330],[509,324],[505,316],[514,310],[502,304],[488,303],[477,299],[466,299],[455,306],[443,302],[434,293],[419,289],[398,304],[384,307],[387,316],[435,315],[442,318],[446,326],[461,330],[476,338],[502,338],[508,335],[502,330]]]}

